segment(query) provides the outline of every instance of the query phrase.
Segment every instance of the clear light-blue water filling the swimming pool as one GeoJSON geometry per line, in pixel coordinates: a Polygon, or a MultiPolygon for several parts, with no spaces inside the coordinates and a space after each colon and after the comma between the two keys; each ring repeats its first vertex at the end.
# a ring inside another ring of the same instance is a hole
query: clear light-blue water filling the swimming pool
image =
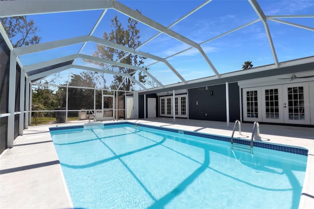
{"type": "Polygon", "coordinates": [[[307,157],[114,125],[51,131],[75,208],[298,208],[307,157]]]}

